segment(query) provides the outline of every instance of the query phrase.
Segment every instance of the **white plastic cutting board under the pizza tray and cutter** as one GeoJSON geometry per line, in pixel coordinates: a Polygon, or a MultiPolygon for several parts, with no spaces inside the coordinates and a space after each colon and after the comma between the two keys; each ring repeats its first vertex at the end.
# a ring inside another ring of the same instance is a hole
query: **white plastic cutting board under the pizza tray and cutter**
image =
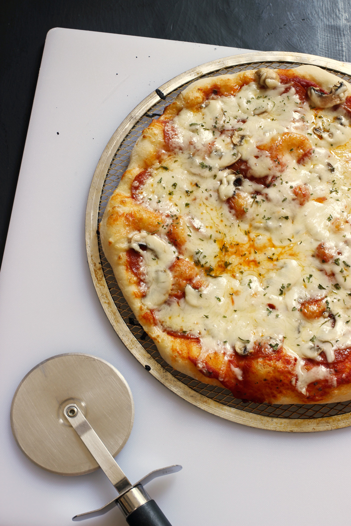
{"type": "MultiPolygon", "coordinates": [[[[233,28],[235,31],[235,28],[233,28]]],[[[147,491],[174,526],[349,523],[351,429],[289,434],[246,428],[169,391],[124,347],[89,274],[84,219],[98,159],[117,126],[155,88],[246,49],[52,29],[48,33],[0,274],[1,526],[68,526],[115,496],[101,471],[61,477],[17,448],[9,411],[38,362],[86,352],[111,362],[135,401],[117,460],[135,482],[183,470],[147,491]]],[[[116,508],[87,526],[125,524],[116,508]]]]}

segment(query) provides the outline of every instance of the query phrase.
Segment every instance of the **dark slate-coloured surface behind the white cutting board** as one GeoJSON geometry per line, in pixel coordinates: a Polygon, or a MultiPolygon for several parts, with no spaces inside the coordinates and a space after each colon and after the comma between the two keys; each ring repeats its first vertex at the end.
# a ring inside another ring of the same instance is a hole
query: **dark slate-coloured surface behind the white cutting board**
{"type": "Polygon", "coordinates": [[[53,27],[347,60],[349,0],[0,0],[0,261],[53,27]]]}

